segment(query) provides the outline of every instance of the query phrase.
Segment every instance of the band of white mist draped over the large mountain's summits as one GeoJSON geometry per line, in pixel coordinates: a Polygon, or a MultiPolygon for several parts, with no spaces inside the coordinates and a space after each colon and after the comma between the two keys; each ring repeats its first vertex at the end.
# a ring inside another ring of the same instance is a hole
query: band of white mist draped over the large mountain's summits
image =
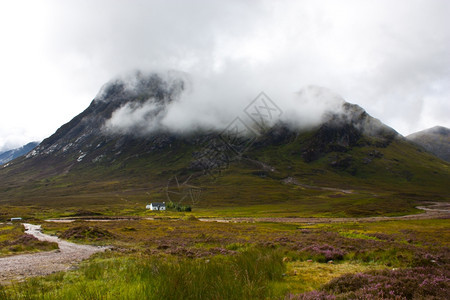
{"type": "Polygon", "coordinates": [[[95,101],[111,101],[111,95],[119,90],[134,95],[112,113],[103,129],[109,134],[141,136],[159,130],[220,131],[236,118],[250,126],[255,118],[264,118],[269,127],[282,121],[301,129],[318,125],[326,114],[343,112],[345,100],[326,88],[308,85],[265,93],[258,90],[256,82],[239,84],[239,77],[222,85],[221,78],[182,72],[135,72],[107,83],[95,101]]]}

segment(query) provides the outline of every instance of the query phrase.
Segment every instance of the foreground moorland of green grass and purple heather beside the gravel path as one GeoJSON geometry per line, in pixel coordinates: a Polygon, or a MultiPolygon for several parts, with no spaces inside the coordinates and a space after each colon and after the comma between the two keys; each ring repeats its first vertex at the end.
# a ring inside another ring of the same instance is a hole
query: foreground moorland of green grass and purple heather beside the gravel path
{"type": "Polygon", "coordinates": [[[448,299],[450,293],[448,219],[283,224],[191,217],[43,227],[113,248],[75,270],[3,286],[0,298],[448,299]]]}

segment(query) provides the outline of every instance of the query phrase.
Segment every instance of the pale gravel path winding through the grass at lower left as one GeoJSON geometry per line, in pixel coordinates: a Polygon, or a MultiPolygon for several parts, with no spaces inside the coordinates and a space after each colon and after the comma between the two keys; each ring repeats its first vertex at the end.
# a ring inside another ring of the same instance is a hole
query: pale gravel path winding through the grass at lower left
{"type": "Polygon", "coordinates": [[[78,245],[60,240],[55,236],[42,233],[40,225],[23,225],[25,226],[25,233],[31,234],[41,241],[56,242],[59,245],[59,250],[0,258],[0,283],[65,271],[74,263],[107,249],[107,247],[78,245]]]}

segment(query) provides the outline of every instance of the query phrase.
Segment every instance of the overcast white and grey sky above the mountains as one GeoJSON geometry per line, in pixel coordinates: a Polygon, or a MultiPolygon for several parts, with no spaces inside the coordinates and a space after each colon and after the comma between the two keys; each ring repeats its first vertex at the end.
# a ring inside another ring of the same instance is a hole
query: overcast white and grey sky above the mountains
{"type": "Polygon", "coordinates": [[[51,135],[136,69],[235,97],[246,79],[272,98],[318,85],[404,135],[450,127],[449,16],[447,0],[3,0],[0,150],[51,135]]]}

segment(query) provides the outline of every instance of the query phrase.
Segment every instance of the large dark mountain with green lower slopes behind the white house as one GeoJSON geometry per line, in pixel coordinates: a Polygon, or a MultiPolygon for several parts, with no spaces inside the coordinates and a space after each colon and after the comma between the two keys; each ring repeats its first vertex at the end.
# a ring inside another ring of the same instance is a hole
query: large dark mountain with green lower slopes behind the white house
{"type": "Polygon", "coordinates": [[[355,104],[308,128],[278,121],[258,134],[176,133],[159,120],[185,89],[183,77],[158,74],[106,84],[85,111],[0,168],[0,204],[129,209],[150,195],[225,215],[354,216],[448,200],[450,165],[355,104]]]}

